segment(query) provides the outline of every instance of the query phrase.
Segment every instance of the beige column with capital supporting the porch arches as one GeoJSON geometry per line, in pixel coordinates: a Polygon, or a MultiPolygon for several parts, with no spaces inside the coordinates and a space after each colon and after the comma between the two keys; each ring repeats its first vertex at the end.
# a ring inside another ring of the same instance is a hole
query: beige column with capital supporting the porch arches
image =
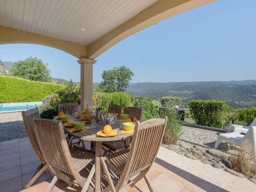
{"type": "Polygon", "coordinates": [[[86,104],[92,105],[93,64],[96,60],[82,58],[77,62],[81,64],[81,110],[84,110],[86,104]]]}

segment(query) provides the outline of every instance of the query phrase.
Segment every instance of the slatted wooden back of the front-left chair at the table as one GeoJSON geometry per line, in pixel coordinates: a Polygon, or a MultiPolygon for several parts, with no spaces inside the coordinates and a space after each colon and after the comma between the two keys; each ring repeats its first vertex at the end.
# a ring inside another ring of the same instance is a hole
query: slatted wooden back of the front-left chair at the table
{"type": "Polygon", "coordinates": [[[83,186],[85,180],[72,161],[62,123],[50,119],[36,119],[34,125],[38,145],[57,177],[61,178],[61,173],[69,175],[83,186]]]}

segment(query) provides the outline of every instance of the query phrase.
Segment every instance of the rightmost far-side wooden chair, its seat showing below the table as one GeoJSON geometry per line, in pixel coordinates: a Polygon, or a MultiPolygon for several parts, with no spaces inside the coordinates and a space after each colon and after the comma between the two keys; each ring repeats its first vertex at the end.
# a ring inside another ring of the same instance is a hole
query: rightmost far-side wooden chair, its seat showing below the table
{"type": "MultiPolygon", "coordinates": [[[[137,107],[125,107],[124,108],[124,114],[129,114],[129,118],[136,117],[138,120],[142,120],[142,114],[143,109],[137,108],[137,107]]],[[[126,141],[119,140],[119,141],[105,141],[102,142],[102,148],[105,150],[104,155],[109,153],[115,153],[118,150],[125,149],[129,147],[129,140],[130,138],[127,138],[126,141]]]]}

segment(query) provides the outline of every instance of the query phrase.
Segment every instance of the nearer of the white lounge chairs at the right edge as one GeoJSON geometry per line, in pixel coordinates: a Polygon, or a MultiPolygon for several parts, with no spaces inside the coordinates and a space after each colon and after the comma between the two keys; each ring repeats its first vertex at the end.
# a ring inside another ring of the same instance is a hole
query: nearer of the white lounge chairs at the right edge
{"type": "Polygon", "coordinates": [[[251,145],[250,150],[254,156],[254,160],[256,161],[256,126],[251,126],[245,135],[237,132],[219,134],[214,148],[217,148],[222,141],[227,141],[230,144],[241,146],[245,140],[247,140],[247,143],[251,145]]]}

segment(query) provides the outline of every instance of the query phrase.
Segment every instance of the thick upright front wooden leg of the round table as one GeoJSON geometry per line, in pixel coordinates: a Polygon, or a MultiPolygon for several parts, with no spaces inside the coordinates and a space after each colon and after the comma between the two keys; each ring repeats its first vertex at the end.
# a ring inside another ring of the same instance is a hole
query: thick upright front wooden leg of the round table
{"type": "Polygon", "coordinates": [[[100,156],[101,156],[101,141],[95,142],[95,192],[100,191],[100,183],[101,183],[101,164],[100,164],[100,156]]]}

